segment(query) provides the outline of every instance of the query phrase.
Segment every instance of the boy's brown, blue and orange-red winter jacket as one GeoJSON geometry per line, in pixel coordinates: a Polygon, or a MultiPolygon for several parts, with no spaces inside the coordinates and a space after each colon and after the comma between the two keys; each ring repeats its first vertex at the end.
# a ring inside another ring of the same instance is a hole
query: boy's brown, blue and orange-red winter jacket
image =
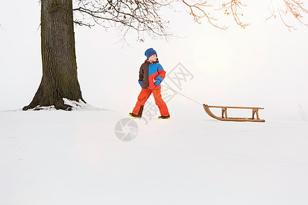
{"type": "Polygon", "coordinates": [[[165,78],[166,71],[159,64],[158,59],[154,63],[150,63],[147,59],[140,66],[139,81],[142,82],[142,89],[160,89],[161,85],[154,85],[155,79],[158,77],[161,81],[165,78]]]}

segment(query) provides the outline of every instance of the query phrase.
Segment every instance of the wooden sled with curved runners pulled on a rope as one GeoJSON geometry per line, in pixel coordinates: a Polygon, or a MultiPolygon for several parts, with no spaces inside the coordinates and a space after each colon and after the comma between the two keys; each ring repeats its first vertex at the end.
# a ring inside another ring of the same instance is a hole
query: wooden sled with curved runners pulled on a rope
{"type": "Polygon", "coordinates": [[[203,104],[203,108],[205,109],[205,111],[207,112],[209,116],[217,120],[238,121],[238,122],[265,122],[265,120],[259,119],[259,109],[264,109],[263,107],[227,107],[227,106],[209,106],[209,105],[203,104]],[[222,115],[221,118],[214,115],[209,110],[209,107],[221,108],[221,115],[222,115]],[[227,109],[252,109],[253,117],[252,118],[228,118],[227,109]],[[255,118],[255,115],[256,115],[256,118],[255,118]]]}

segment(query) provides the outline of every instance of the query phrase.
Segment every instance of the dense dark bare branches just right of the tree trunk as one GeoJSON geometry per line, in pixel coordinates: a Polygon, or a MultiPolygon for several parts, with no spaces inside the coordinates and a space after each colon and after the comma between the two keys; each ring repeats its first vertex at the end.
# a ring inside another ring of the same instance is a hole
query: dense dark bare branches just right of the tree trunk
{"type": "Polygon", "coordinates": [[[75,16],[81,17],[81,20],[75,18],[77,25],[92,27],[97,24],[105,28],[113,27],[123,32],[123,36],[132,29],[137,31],[138,39],[142,32],[154,38],[172,36],[166,31],[168,22],[162,20],[158,13],[160,8],[170,5],[168,1],[77,0],[75,3],[77,8],[73,12],[75,16]]]}

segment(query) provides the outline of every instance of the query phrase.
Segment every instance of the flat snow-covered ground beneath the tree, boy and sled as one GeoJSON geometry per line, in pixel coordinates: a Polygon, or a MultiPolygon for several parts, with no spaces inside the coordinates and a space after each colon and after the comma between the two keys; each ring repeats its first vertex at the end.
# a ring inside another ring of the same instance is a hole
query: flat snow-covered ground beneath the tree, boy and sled
{"type": "Polygon", "coordinates": [[[125,118],[1,111],[0,204],[308,204],[307,121],[125,118]]]}

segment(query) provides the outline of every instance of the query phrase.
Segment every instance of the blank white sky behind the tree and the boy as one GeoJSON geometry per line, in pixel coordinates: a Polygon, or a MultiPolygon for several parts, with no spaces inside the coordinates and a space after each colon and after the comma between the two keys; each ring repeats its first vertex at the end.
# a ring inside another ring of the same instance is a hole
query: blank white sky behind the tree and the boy
{"type": "MultiPolygon", "coordinates": [[[[185,12],[168,13],[171,31],[186,38],[146,39],[130,46],[116,44],[116,32],[103,27],[75,27],[79,83],[84,99],[96,107],[131,111],[140,92],[138,70],[144,51],[153,47],[168,71],[180,62],[194,79],[181,91],[209,105],[266,107],[265,118],[298,118],[298,104],[308,109],[308,28],[287,30],[268,20],[266,0],[246,1],[243,30],[233,23],[221,31],[193,23],[185,12]]],[[[224,25],[224,21],[220,21],[224,25]]],[[[0,8],[0,110],[20,109],[31,102],[42,77],[40,6],[36,1],[5,1],[0,8]],[[14,11],[14,13],[12,12],[14,11]]],[[[151,98],[150,98],[151,100],[151,98]]],[[[203,113],[181,96],[168,103],[170,113],[203,113]]]]}

